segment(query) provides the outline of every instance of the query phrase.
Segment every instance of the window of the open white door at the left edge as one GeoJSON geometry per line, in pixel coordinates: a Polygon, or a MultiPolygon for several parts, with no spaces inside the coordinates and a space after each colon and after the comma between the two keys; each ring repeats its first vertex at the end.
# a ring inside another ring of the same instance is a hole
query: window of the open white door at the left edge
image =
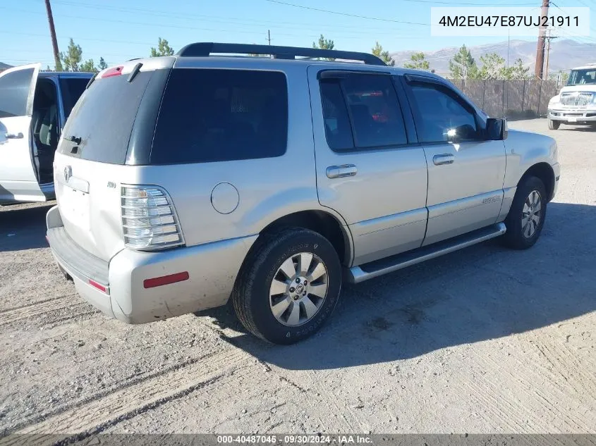
{"type": "Polygon", "coordinates": [[[0,118],[26,116],[35,68],[25,68],[0,77],[0,118]]]}

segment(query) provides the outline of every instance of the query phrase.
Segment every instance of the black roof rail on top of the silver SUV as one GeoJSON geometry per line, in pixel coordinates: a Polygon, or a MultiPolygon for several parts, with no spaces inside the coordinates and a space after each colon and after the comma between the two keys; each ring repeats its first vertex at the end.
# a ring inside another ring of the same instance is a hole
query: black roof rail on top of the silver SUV
{"type": "Polygon", "coordinates": [[[222,44],[214,42],[197,42],[180,49],[176,56],[208,57],[210,54],[270,54],[279,59],[334,58],[363,61],[368,65],[387,65],[377,56],[354,51],[336,51],[334,49],[277,47],[275,45],[222,44]]]}

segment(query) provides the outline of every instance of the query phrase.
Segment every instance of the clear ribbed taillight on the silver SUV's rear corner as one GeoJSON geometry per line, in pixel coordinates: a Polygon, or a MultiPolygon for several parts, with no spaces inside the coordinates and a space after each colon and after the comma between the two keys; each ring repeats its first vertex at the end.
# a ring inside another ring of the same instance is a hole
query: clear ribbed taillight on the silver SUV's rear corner
{"type": "Polygon", "coordinates": [[[164,249],[184,244],[174,204],[157,186],[122,186],[124,242],[133,249],[164,249]]]}

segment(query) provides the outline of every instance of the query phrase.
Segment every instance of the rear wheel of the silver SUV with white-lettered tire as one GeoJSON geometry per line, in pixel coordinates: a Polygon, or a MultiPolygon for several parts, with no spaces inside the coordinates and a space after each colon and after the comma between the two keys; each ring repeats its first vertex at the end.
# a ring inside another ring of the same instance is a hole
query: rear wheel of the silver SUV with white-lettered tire
{"type": "Polygon", "coordinates": [[[315,333],[331,316],[339,299],[341,274],[334,247],[319,233],[288,228],[261,235],[234,284],[234,311],[253,335],[274,344],[293,344],[315,333]],[[307,267],[299,266],[308,262],[310,254],[310,268],[304,273],[307,267]],[[319,275],[321,271],[323,275],[319,275]],[[305,284],[309,279],[312,284],[305,284]],[[281,290],[285,292],[276,294],[281,290]]]}

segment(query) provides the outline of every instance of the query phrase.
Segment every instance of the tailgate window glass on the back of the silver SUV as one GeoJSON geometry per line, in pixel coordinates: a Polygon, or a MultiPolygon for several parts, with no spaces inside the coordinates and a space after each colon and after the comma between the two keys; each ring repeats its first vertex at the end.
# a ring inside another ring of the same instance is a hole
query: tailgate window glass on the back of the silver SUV
{"type": "Polygon", "coordinates": [[[123,164],[139,104],[154,71],[95,80],[76,103],[58,151],[89,161],[123,164]],[[80,138],[80,144],[71,142],[80,138]],[[78,149],[73,150],[73,147],[78,149]]]}

